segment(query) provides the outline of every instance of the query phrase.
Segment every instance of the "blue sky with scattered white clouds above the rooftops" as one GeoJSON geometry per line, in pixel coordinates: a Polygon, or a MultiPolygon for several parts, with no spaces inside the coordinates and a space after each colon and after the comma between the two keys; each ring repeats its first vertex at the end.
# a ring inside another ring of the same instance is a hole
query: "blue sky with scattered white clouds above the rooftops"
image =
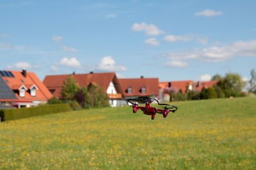
{"type": "Polygon", "coordinates": [[[209,80],[256,68],[256,1],[0,1],[0,69],[209,80]]]}

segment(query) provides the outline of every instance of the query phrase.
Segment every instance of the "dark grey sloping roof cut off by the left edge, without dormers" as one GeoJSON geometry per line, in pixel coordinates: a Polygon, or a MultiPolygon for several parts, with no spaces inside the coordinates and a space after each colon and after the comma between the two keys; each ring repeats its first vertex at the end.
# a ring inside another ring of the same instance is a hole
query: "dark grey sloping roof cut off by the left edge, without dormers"
{"type": "Polygon", "coordinates": [[[0,99],[15,100],[17,97],[10,87],[7,85],[6,81],[0,76],[0,99]]]}

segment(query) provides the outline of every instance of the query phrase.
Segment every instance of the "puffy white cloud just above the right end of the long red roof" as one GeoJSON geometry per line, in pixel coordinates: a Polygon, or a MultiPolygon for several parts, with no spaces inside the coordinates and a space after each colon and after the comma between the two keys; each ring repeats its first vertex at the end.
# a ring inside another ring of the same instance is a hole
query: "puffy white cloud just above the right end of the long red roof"
{"type": "Polygon", "coordinates": [[[103,57],[97,68],[103,71],[125,71],[126,68],[122,65],[116,64],[115,60],[111,56],[103,57]]]}

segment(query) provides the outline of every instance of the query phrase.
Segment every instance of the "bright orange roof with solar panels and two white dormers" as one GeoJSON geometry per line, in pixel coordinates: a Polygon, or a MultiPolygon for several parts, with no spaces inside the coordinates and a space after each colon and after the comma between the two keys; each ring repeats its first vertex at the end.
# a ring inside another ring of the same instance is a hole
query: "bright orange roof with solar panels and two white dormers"
{"type": "Polygon", "coordinates": [[[26,77],[23,76],[21,71],[10,71],[13,74],[13,77],[3,76],[3,80],[6,81],[6,84],[10,89],[17,91],[20,87],[25,86],[26,89],[30,89],[35,85],[38,89],[36,90],[36,96],[31,96],[28,91],[26,91],[25,97],[20,97],[19,93],[15,93],[15,96],[18,98],[17,101],[47,101],[51,99],[52,95],[49,90],[45,87],[42,81],[36,76],[35,73],[26,71],[26,77]]]}

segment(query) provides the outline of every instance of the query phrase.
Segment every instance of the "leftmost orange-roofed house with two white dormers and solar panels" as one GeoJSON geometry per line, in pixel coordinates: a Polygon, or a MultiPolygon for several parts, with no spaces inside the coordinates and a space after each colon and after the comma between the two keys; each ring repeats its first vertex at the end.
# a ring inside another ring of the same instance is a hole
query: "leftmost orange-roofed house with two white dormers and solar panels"
{"type": "Polygon", "coordinates": [[[0,104],[17,108],[45,104],[52,94],[35,73],[0,71],[0,104]]]}

